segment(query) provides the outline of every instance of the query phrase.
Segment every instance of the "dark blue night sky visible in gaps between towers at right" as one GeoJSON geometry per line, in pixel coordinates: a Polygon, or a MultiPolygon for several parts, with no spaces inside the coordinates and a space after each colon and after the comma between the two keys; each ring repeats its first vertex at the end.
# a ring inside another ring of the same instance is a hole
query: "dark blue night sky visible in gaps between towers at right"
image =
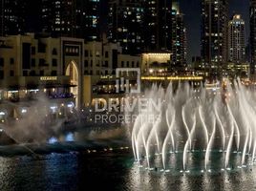
{"type": "MultiPolygon", "coordinates": [[[[200,55],[200,26],[201,26],[201,0],[181,0],[181,11],[184,13],[185,27],[187,28],[188,63],[193,55],[200,55]]],[[[246,41],[249,34],[249,0],[229,0],[229,16],[242,14],[246,22],[246,41]]]]}

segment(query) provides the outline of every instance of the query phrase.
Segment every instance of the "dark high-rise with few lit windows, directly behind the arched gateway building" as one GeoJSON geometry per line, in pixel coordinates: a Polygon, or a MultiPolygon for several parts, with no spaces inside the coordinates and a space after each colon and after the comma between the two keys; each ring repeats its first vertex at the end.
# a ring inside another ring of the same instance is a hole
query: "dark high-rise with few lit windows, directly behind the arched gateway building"
{"type": "Polygon", "coordinates": [[[99,38],[99,0],[42,0],[42,31],[53,36],[99,38]]]}

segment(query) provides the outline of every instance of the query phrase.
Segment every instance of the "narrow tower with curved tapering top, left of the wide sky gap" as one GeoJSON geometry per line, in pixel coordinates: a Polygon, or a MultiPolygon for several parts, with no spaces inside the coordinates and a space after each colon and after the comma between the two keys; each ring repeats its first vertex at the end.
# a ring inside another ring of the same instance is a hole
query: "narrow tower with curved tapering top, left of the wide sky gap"
{"type": "Polygon", "coordinates": [[[174,67],[183,69],[186,65],[186,30],[183,14],[177,2],[172,5],[172,63],[174,67]]]}

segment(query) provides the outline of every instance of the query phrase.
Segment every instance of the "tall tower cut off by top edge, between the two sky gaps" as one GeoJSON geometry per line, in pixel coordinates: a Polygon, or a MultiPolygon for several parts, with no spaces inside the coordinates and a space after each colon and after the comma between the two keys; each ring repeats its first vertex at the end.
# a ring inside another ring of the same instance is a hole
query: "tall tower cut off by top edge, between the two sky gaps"
{"type": "Polygon", "coordinates": [[[220,76],[227,60],[228,0],[202,0],[203,67],[220,76]]]}

